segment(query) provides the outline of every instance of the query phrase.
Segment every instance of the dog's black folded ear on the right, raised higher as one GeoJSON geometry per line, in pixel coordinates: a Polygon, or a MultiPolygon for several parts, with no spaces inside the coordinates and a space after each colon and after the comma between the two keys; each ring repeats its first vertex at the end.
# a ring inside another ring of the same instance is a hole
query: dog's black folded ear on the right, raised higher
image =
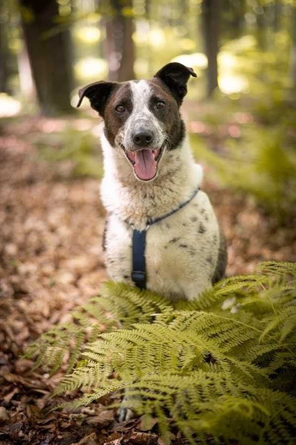
{"type": "Polygon", "coordinates": [[[154,77],[158,77],[171,90],[178,104],[181,105],[187,93],[187,82],[190,76],[197,77],[192,68],[182,63],[171,62],[162,67],[154,77]]]}

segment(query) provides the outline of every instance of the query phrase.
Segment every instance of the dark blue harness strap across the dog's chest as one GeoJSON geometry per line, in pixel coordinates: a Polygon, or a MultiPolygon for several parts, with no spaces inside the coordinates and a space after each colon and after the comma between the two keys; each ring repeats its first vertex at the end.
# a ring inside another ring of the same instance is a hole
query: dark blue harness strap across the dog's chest
{"type": "Polygon", "coordinates": [[[133,230],[133,270],[132,270],[132,280],[140,289],[146,289],[146,261],[145,261],[145,249],[146,249],[146,233],[150,226],[156,224],[159,221],[171,216],[173,213],[177,212],[188,204],[196,195],[199,187],[193,192],[192,196],[187,199],[187,201],[182,202],[179,207],[166,213],[159,218],[150,218],[147,221],[146,228],[144,230],[133,230]]]}

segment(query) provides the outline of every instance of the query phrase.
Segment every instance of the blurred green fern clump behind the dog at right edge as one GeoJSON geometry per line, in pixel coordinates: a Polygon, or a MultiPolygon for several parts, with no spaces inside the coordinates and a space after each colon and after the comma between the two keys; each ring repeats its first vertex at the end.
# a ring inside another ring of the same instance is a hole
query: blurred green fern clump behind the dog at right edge
{"type": "Polygon", "coordinates": [[[228,139],[220,154],[193,136],[198,158],[215,167],[215,176],[235,191],[247,193],[280,221],[296,207],[296,152],[286,127],[246,126],[239,140],[228,139]]]}

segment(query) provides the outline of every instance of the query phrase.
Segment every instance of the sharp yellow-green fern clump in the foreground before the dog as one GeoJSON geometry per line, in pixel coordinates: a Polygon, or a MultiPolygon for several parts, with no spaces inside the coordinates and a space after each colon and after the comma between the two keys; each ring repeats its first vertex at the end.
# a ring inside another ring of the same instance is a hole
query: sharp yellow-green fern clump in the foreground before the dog
{"type": "Polygon", "coordinates": [[[84,388],[71,406],[128,388],[122,405],[156,417],[165,443],[177,427],[192,444],[210,435],[217,443],[292,445],[296,264],[262,263],[191,302],[107,283],[72,318],[27,351],[56,370],[61,351],[74,342],[73,366],[88,338],[56,388],[84,388]]]}

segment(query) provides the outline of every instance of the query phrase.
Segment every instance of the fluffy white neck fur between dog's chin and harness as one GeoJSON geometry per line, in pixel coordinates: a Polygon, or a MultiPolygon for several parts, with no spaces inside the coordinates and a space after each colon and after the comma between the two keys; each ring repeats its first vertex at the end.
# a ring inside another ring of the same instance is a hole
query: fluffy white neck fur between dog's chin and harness
{"type": "Polygon", "coordinates": [[[157,177],[139,181],[118,147],[111,147],[101,132],[104,177],[101,199],[107,212],[142,230],[147,218],[162,216],[189,199],[202,181],[202,167],[194,162],[187,137],[180,147],[165,150],[157,177]]]}

